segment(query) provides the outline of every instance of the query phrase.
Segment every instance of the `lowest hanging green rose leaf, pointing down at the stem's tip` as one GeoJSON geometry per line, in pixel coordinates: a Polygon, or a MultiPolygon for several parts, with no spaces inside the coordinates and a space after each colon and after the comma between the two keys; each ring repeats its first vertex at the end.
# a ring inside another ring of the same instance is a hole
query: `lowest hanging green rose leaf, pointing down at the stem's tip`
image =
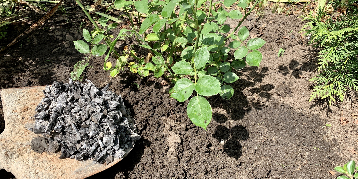
{"type": "Polygon", "coordinates": [[[193,124],[206,130],[211,121],[212,113],[210,103],[205,98],[195,96],[190,99],[187,106],[187,115],[193,124]]]}

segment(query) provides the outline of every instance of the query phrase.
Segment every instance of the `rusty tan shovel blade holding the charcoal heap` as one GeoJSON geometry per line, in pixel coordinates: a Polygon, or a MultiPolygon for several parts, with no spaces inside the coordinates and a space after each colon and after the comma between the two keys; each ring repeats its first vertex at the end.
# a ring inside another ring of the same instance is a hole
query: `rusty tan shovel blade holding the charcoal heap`
{"type": "Polygon", "coordinates": [[[99,165],[92,160],[59,159],[61,152],[33,151],[31,141],[41,135],[28,128],[35,123],[31,117],[44,97],[43,89],[44,86],[36,86],[1,90],[5,130],[0,134],[0,169],[13,173],[16,179],[82,179],[121,161],[115,159],[108,165],[99,165]]]}

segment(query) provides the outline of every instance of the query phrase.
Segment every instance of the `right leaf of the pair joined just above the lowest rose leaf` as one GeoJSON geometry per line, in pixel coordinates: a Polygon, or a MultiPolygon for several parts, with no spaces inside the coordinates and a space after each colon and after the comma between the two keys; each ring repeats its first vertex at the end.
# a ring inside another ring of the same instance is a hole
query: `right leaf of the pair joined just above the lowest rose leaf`
{"type": "Polygon", "coordinates": [[[213,76],[205,75],[195,84],[195,91],[202,96],[213,96],[221,92],[220,82],[213,76]]]}

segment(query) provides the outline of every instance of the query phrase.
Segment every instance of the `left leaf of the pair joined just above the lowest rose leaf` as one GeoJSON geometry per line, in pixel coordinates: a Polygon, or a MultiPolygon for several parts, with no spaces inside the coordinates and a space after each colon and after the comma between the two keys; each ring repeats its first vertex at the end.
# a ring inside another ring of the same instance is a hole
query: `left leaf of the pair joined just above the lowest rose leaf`
{"type": "Polygon", "coordinates": [[[192,96],[194,90],[194,83],[188,78],[182,78],[176,81],[173,89],[173,93],[170,97],[178,100],[179,102],[186,101],[190,96],[192,96]]]}

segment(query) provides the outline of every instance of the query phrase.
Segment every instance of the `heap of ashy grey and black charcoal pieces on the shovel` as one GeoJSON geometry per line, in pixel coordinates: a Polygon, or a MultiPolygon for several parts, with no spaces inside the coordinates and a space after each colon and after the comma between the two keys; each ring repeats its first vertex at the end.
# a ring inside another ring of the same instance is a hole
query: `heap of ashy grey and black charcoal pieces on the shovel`
{"type": "Polygon", "coordinates": [[[43,90],[36,107],[35,125],[29,130],[43,134],[33,139],[35,152],[57,152],[59,158],[93,159],[95,164],[123,158],[140,139],[134,120],[127,114],[121,95],[86,84],[53,82],[43,90]]]}

